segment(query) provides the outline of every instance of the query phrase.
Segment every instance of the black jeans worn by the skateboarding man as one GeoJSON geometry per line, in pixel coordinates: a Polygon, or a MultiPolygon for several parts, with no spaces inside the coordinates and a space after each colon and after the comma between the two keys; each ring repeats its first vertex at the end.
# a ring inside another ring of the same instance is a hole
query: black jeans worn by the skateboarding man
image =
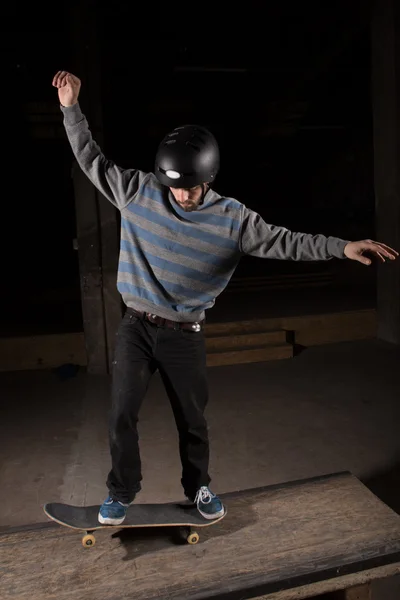
{"type": "Polygon", "coordinates": [[[150,378],[159,370],[179,434],[181,483],[192,498],[208,485],[208,401],[204,334],[159,327],[125,313],[117,332],[112,373],[109,443],[112,469],[107,487],[128,503],[141,489],[138,415],[150,378]]]}

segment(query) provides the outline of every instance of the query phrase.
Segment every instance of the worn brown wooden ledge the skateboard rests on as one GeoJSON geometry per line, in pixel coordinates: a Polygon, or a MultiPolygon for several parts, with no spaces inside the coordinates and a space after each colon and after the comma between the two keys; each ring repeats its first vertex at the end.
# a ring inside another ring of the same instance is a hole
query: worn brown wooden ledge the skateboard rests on
{"type": "Polygon", "coordinates": [[[173,543],[166,529],[103,530],[90,550],[61,526],[5,533],[0,597],[289,600],[399,568],[400,516],[349,473],[223,499],[227,517],[194,546],[173,543]]]}

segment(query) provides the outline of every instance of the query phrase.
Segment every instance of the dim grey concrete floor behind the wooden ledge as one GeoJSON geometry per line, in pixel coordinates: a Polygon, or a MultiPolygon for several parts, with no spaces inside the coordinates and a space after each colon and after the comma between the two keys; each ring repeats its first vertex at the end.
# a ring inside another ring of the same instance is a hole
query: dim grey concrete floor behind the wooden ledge
{"type": "MultiPolygon", "coordinates": [[[[351,342],[209,370],[217,493],[349,470],[400,513],[400,348],[351,342]]],[[[96,504],[110,467],[109,379],[0,374],[0,526],[45,521],[50,501],[96,504]]],[[[177,435],[156,375],[139,423],[142,502],[182,497],[177,435]]],[[[398,600],[400,578],[374,584],[398,600]]]]}

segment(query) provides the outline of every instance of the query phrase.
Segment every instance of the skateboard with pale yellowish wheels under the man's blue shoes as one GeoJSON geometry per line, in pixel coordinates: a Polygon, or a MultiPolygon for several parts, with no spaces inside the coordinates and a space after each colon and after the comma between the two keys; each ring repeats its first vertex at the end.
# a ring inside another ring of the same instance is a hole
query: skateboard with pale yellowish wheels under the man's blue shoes
{"type": "Polygon", "coordinates": [[[205,519],[196,506],[179,503],[132,504],[121,525],[103,525],[98,521],[100,506],[72,506],[51,502],[43,506],[45,514],[60,525],[85,531],[82,544],[91,548],[96,543],[93,531],[97,529],[129,529],[139,527],[182,527],[187,529],[188,544],[197,544],[199,534],[196,529],[215,525],[227,514],[226,507],[222,517],[205,519]]]}

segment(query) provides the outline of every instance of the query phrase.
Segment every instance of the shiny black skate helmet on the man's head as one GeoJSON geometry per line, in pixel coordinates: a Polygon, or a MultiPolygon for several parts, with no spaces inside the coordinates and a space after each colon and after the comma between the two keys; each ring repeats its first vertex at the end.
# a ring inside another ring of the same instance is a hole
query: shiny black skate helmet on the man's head
{"type": "Polygon", "coordinates": [[[183,125],[168,133],[158,147],[155,173],[168,187],[190,188],[213,182],[219,170],[215,137],[200,125],[183,125]]]}

